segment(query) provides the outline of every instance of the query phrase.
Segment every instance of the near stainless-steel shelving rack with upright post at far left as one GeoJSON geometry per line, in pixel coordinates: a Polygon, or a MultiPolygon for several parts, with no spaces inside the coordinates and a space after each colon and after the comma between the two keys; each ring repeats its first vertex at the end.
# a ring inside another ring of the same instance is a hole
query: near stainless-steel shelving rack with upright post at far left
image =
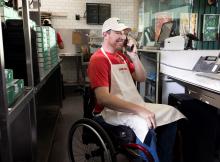
{"type": "MultiPolygon", "coordinates": [[[[28,86],[12,107],[7,105],[2,27],[0,25],[0,161],[36,160],[36,108],[28,0],[22,0],[28,86]],[[28,121],[28,122],[27,122],[28,121]],[[21,125],[20,125],[21,124],[21,125]],[[25,124],[25,125],[23,125],[25,124]]],[[[0,19],[1,20],[1,19],[0,19]]]]}

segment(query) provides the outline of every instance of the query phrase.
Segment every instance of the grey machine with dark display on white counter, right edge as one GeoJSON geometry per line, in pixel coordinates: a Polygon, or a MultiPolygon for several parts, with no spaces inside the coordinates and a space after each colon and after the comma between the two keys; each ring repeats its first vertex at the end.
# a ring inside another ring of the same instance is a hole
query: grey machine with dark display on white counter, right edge
{"type": "Polygon", "coordinates": [[[220,57],[219,56],[201,56],[193,71],[207,72],[207,73],[220,73],[220,57]]]}

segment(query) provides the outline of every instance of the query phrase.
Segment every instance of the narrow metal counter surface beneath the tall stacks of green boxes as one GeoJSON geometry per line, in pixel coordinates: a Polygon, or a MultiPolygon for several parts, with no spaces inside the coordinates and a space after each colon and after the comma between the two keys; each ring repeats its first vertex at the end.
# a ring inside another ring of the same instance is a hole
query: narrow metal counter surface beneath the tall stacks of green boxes
{"type": "Polygon", "coordinates": [[[41,77],[40,83],[39,83],[37,86],[35,86],[35,93],[37,93],[37,92],[41,89],[41,87],[43,87],[43,85],[47,82],[47,80],[48,80],[48,79],[50,78],[50,76],[54,73],[54,71],[59,68],[60,62],[61,62],[61,61],[59,61],[56,65],[54,65],[53,67],[51,67],[51,68],[44,74],[44,76],[41,77]]]}

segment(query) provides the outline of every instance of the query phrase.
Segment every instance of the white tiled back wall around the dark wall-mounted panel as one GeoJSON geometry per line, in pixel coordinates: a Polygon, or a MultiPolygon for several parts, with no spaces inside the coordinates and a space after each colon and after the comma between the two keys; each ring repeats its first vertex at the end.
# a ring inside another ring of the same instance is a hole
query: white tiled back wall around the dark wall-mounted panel
{"type": "Polygon", "coordinates": [[[87,25],[86,18],[75,19],[79,14],[83,17],[86,3],[111,4],[111,16],[119,17],[128,26],[137,29],[138,0],[41,0],[41,11],[65,13],[65,16],[52,17],[55,28],[62,29],[101,29],[101,25],[87,25]]]}

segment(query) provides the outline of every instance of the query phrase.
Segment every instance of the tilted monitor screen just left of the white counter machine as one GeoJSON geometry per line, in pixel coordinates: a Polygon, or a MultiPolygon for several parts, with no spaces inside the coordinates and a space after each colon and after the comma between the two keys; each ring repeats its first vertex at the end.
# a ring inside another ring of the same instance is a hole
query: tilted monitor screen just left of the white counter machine
{"type": "Polygon", "coordinates": [[[163,44],[166,38],[169,38],[173,31],[173,21],[166,22],[162,25],[157,43],[163,44]]]}

